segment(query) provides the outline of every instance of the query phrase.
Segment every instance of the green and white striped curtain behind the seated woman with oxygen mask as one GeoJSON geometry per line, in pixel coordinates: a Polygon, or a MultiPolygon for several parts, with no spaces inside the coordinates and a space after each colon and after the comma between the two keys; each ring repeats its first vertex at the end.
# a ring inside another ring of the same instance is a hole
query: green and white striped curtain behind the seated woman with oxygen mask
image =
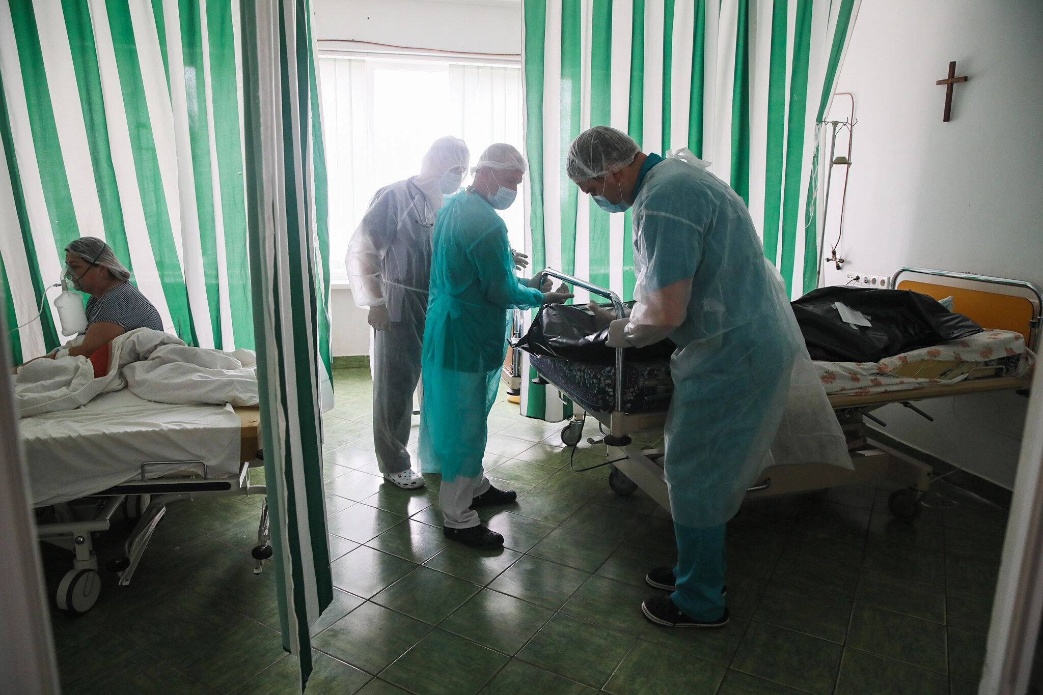
{"type": "Polygon", "coordinates": [[[82,235],[108,242],[166,330],[253,347],[241,41],[238,0],[0,0],[0,309],[28,322],[16,364],[65,340],[44,292],[82,235]]]}

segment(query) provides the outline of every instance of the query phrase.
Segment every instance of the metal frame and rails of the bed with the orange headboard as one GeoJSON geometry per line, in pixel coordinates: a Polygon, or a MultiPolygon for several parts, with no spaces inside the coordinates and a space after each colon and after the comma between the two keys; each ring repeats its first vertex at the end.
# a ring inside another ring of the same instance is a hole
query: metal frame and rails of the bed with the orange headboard
{"type": "MultiPolygon", "coordinates": [[[[1041,306],[1043,306],[1043,290],[1032,282],[994,278],[972,273],[954,273],[923,268],[901,268],[892,276],[892,288],[897,287],[897,280],[903,273],[921,273],[932,276],[943,276],[956,280],[989,282],[1020,288],[1035,295],[1035,316],[1030,321],[1033,328],[1030,348],[1035,351],[1039,342],[1041,324],[1041,306]]],[[[623,301],[612,291],[598,287],[586,280],[566,273],[548,268],[543,274],[558,278],[575,287],[582,288],[591,294],[604,297],[612,304],[617,319],[624,318],[623,301]]],[[[638,488],[670,511],[670,498],[666,493],[666,481],[663,472],[663,455],[661,449],[646,449],[636,445],[630,435],[641,430],[661,427],[666,420],[665,412],[626,413],[623,407],[624,391],[624,350],[615,350],[615,386],[614,407],[611,413],[589,413],[608,431],[600,441],[589,440],[591,444],[606,445],[606,460],[611,462],[609,487],[620,495],[630,495],[638,488]]],[[[544,375],[540,375],[547,379],[544,375]]],[[[549,380],[556,389],[566,393],[566,389],[549,380]]],[[[807,463],[791,466],[776,466],[766,469],[755,485],[747,491],[747,499],[773,497],[799,492],[810,492],[826,488],[841,487],[853,483],[892,480],[902,487],[892,493],[889,506],[896,517],[912,519],[919,515],[920,501],[929,488],[931,467],[897,451],[881,448],[874,443],[866,427],[866,419],[882,424],[882,421],[871,414],[871,411],[890,403],[901,403],[927,420],[933,420],[929,415],[913,405],[911,401],[943,396],[955,396],[965,393],[984,391],[1023,389],[1027,388],[1026,379],[1015,377],[980,379],[964,381],[952,386],[941,386],[916,391],[899,391],[870,396],[850,396],[833,394],[829,396],[830,405],[836,414],[841,428],[848,444],[853,470],[829,464],[807,463]]],[[[577,404],[578,406],[579,404],[577,404]]],[[[562,442],[574,445],[582,437],[583,420],[574,415],[561,431],[562,442]]]]}

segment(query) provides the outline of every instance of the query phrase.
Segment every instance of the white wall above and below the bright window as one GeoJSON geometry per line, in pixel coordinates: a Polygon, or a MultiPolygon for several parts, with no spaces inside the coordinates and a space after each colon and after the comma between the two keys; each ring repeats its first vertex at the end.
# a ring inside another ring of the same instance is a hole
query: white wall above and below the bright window
{"type": "MultiPolygon", "coordinates": [[[[467,53],[522,52],[519,0],[316,0],[315,15],[319,51],[323,40],[353,40],[467,53]]],[[[369,354],[366,312],[355,306],[350,290],[334,287],[330,313],[333,354],[369,354]]]]}

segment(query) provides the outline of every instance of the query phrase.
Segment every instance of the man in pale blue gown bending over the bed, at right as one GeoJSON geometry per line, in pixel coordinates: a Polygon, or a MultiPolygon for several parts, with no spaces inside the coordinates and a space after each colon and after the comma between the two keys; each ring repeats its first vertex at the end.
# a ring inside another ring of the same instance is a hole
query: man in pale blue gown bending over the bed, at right
{"type": "Polygon", "coordinates": [[[664,471],[678,557],[646,576],[672,593],[641,604],[650,621],[670,627],[727,624],[725,522],[767,465],[791,463],[791,454],[845,465],[832,458],[846,455],[822,384],[807,376],[781,277],[742,198],[706,166],[687,150],[646,155],[604,126],[580,133],[566,158],[568,177],[599,206],[633,209],[635,304],[612,321],[607,345],[668,337],[677,345],[664,471]],[[795,451],[805,435],[818,448],[795,451]]]}

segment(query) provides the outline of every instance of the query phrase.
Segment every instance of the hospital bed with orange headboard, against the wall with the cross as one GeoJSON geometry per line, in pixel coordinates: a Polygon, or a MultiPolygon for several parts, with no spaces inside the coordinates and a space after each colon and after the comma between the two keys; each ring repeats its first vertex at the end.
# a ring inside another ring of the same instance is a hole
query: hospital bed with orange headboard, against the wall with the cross
{"type": "MultiPolygon", "coordinates": [[[[553,269],[544,273],[606,298],[611,302],[615,316],[624,316],[623,302],[613,292],[553,269]]],[[[1003,340],[1019,341],[1023,337],[1023,343],[1017,346],[1021,352],[1027,350],[1027,354],[1033,355],[1038,347],[1043,290],[1032,282],[925,268],[902,268],[894,274],[891,287],[913,290],[937,300],[952,297],[954,312],[964,314],[983,327],[996,329],[994,333],[983,334],[984,340],[994,338],[999,341],[996,345],[1003,345],[1003,340]],[[1010,333],[1000,334],[1002,331],[1010,333]]],[[[970,349],[974,351],[975,348],[970,349]]],[[[1011,369],[1012,361],[1008,357],[1011,352],[1016,352],[1013,347],[998,356],[992,354],[991,348],[979,352],[979,361],[976,361],[975,354],[953,355],[952,364],[946,366],[952,373],[959,372],[957,378],[909,379],[908,383],[869,384],[867,388],[836,387],[834,393],[828,393],[829,402],[845,433],[853,469],[816,462],[773,466],[766,469],[749,488],[747,499],[891,480],[901,486],[890,497],[891,512],[899,518],[915,518],[930,485],[931,468],[875,443],[866,420],[882,425],[873,411],[889,403],[901,403],[932,420],[913,403],[929,398],[1028,388],[1028,375],[1011,369]]],[[[937,374],[940,364],[937,356],[937,353],[930,355],[933,359],[931,368],[936,370],[932,374],[937,374]]],[[[898,364],[907,367],[903,357],[897,356],[898,364]]],[[[622,349],[615,350],[613,368],[587,368],[538,355],[529,355],[528,359],[541,381],[551,383],[563,398],[573,401],[574,407],[582,406],[586,414],[601,423],[604,432],[601,442],[606,445],[606,457],[612,466],[609,476],[612,491],[629,495],[640,488],[669,512],[670,499],[662,468],[664,452],[658,448],[646,448],[633,439],[637,437],[648,441],[661,431],[673,392],[669,365],[628,365],[622,349]],[[650,432],[652,437],[649,437],[650,432]]],[[[1013,362],[1017,363],[1017,359],[1013,362]]],[[[833,367],[828,363],[815,364],[822,374],[827,374],[833,367]]],[[[916,365],[913,368],[915,372],[916,365]]],[[[561,431],[564,444],[579,442],[584,417],[583,414],[574,415],[564,426],[561,431]]]]}

